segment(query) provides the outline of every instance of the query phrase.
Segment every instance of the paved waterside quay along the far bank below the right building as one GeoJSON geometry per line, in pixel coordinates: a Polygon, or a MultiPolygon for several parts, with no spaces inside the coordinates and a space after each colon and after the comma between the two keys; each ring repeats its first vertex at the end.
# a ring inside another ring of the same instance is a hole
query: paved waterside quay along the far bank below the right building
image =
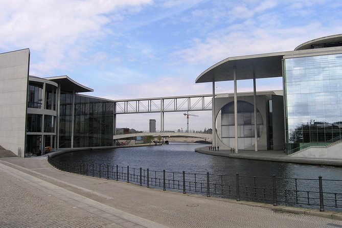
{"type": "Polygon", "coordinates": [[[326,165],[326,166],[342,166],[342,161],[338,160],[330,160],[330,159],[315,159],[315,158],[299,158],[299,157],[291,157],[287,156],[282,150],[239,150],[238,153],[232,153],[230,150],[219,150],[213,151],[209,150],[209,146],[200,147],[196,149],[196,152],[225,156],[225,157],[233,157],[233,158],[242,158],[242,159],[253,159],[260,161],[271,161],[271,162],[285,162],[285,163],[299,163],[299,164],[311,164],[311,165],[326,165]]]}

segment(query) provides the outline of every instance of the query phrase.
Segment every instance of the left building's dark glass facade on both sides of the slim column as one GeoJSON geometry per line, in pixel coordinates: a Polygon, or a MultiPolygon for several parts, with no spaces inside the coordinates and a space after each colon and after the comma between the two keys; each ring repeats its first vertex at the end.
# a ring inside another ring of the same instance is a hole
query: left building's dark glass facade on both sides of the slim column
{"type": "MultiPolygon", "coordinates": [[[[113,145],[114,102],[75,95],[73,147],[113,145]]],[[[73,96],[61,92],[59,147],[70,148],[72,139],[73,96]]]]}

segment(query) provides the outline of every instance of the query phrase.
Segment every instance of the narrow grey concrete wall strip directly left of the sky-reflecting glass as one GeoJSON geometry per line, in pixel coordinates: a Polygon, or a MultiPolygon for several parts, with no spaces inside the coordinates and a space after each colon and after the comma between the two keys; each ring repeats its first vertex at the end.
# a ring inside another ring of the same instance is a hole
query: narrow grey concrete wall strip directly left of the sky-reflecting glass
{"type": "Polygon", "coordinates": [[[273,150],[283,150],[285,146],[284,99],[272,95],[273,150]]]}

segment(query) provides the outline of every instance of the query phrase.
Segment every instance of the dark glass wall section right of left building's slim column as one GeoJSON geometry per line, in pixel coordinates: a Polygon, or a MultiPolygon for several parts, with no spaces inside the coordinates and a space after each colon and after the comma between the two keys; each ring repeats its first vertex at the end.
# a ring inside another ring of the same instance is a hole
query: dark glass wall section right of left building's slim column
{"type": "Polygon", "coordinates": [[[76,95],[74,147],[112,146],[114,103],[76,95]]]}

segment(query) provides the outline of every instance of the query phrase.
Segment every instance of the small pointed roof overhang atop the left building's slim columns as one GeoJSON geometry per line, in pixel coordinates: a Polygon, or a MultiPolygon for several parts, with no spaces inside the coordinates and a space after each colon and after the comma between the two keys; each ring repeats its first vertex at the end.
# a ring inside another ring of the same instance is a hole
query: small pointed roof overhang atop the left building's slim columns
{"type": "Polygon", "coordinates": [[[67,77],[66,75],[63,76],[55,76],[55,77],[48,77],[44,78],[47,80],[54,81],[58,83],[61,87],[61,90],[65,92],[75,92],[75,93],[82,93],[82,92],[93,92],[94,89],[88,88],[80,83],[72,80],[71,78],[67,77]]]}

